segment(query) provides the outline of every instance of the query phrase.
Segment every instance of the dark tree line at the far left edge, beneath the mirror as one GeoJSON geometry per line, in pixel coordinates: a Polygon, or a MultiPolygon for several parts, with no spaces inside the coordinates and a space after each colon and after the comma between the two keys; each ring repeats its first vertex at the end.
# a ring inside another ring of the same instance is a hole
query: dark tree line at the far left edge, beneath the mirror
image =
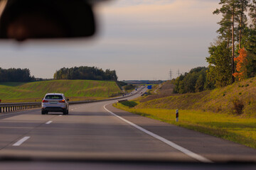
{"type": "Polygon", "coordinates": [[[31,77],[29,69],[2,69],[0,67],[0,82],[22,82],[22,81],[34,81],[35,77],[31,77]]]}

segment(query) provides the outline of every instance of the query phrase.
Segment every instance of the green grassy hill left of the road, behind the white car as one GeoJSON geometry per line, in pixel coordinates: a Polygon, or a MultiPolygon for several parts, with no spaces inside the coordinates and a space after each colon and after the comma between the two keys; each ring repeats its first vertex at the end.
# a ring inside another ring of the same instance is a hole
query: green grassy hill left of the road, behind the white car
{"type": "Polygon", "coordinates": [[[117,94],[114,81],[53,80],[30,83],[1,83],[2,103],[41,101],[46,93],[63,93],[70,101],[98,100],[117,94]]]}

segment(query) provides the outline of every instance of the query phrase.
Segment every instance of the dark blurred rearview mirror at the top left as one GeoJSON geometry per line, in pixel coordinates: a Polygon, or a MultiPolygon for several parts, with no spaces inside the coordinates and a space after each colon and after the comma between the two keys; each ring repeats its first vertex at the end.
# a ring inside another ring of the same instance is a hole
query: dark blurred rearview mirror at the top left
{"type": "Polygon", "coordinates": [[[80,38],[95,34],[97,0],[0,0],[0,38],[80,38]]]}

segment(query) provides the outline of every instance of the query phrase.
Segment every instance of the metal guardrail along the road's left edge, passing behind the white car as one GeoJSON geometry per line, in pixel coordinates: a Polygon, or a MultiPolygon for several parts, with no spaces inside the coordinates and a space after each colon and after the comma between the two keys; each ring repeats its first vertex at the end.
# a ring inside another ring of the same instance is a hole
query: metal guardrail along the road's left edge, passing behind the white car
{"type": "MultiPolygon", "coordinates": [[[[144,88],[142,88],[144,89],[144,88]]],[[[140,89],[139,91],[142,91],[140,89]]],[[[139,91],[136,91],[134,94],[131,94],[129,96],[133,96],[139,91]]],[[[121,96],[117,98],[107,98],[104,100],[99,100],[99,101],[70,101],[68,104],[74,105],[74,104],[82,104],[82,103],[93,103],[93,102],[100,102],[100,101],[113,101],[113,100],[118,100],[122,98],[127,98],[129,96],[121,96]]],[[[33,109],[33,108],[41,108],[42,103],[41,102],[29,102],[29,103],[0,103],[0,113],[7,113],[7,112],[13,112],[13,111],[23,111],[23,110],[28,110],[28,109],[33,109]]]]}

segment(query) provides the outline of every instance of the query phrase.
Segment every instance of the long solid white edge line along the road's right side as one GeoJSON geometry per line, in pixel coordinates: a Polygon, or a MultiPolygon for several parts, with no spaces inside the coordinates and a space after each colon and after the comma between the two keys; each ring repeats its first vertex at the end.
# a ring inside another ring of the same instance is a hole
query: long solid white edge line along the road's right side
{"type": "Polygon", "coordinates": [[[109,111],[107,110],[106,106],[108,104],[106,104],[104,106],[105,110],[108,111],[109,113],[111,113],[112,115],[116,116],[117,118],[123,120],[124,122],[128,123],[129,125],[132,125],[134,128],[137,128],[138,130],[141,130],[142,132],[145,132],[147,135],[150,135],[151,137],[154,137],[156,138],[157,140],[160,140],[161,142],[164,142],[166,143],[167,145],[169,145],[170,147],[174,147],[175,149],[177,149],[178,151],[180,152],[183,152],[183,154],[186,154],[188,155],[189,157],[192,157],[193,159],[196,159],[198,160],[199,162],[204,162],[204,163],[213,163],[212,161],[210,161],[210,159],[207,159],[206,157],[203,157],[199,154],[196,154],[194,152],[191,152],[190,150],[186,149],[186,148],[183,148],[179,145],[176,145],[174,142],[171,142],[169,140],[166,140],[164,137],[161,137],[159,135],[156,135],[155,133],[153,132],[150,132],[149,130],[145,130],[144,128],[138,126],[138,125],[135,125],[134,123],[131,123],[129,120],[126,120],[122,117],[120,117],[119,115],[116,115],[114,113],[112,113],[112,111],[109,111]]]}

